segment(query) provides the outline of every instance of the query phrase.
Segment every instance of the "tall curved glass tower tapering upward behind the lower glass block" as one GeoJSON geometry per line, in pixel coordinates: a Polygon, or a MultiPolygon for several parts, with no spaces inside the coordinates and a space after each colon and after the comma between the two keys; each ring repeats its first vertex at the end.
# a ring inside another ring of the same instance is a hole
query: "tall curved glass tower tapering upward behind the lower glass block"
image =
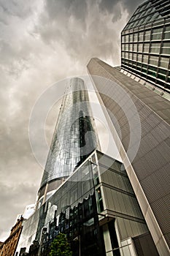
{"type": "Polygon", "coordinates": [[[66,85],[58,121],[39,188],[39,206],[98,148],[88,91],[81,78],[66,85]]]}

